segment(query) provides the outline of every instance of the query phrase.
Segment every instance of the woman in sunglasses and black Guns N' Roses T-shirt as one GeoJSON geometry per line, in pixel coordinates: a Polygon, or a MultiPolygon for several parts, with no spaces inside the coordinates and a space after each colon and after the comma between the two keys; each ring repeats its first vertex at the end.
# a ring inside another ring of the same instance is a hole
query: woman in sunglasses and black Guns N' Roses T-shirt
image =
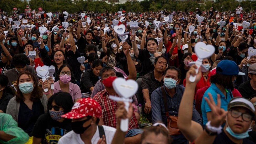
{"type": "Polygon", "coordinates": [[[61,115],[71,111],[72,106],[69,93],[58,92],[52,95],[48,100],[49,111],[35,123],[32,131],[33,144],[57,143],[59,138],[71,131],[71,119],[61,118],[61,115]]]}

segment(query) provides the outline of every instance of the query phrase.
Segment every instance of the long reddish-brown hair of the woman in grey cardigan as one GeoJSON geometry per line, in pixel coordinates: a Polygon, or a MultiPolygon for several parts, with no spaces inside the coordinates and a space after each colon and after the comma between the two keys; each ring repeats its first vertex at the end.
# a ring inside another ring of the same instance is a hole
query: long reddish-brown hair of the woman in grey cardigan
{"type": "MultiPolygon", "coordinates": [[[[34,81],[34,89],[33,91],[31,92],[31,96],[30,96],[30,101],[31,102],[36,102],[38,101],[40,98],[42,98],[43,96],[43,93],[42,93],[42,88],[38,86],[38,83],[36,81],[36,78],[35,76],[30,73],[30,72],[23,72],[21,73],[19,76],[18,76],[18,79],[17,79],[17,86],[19,86],[19,79],[20,79],[20,76],[22,76],[23,74],[26,74],[28,77],[30,77],[31,79],[33,79],[34,81]]],[[[19,87],[17,88],[17,95],[16,95],[16,101],[17,102],[22,102],[24,101],[25,98],[23,96],[23,93],[20,91],[19,87]]]]}

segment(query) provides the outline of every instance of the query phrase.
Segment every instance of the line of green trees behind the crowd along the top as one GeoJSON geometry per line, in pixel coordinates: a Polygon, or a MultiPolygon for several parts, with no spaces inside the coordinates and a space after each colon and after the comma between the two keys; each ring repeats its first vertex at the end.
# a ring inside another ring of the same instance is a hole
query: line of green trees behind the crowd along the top
{"type": "Polygon", "coordinates": [[[26,5],[32,10],[38,10],[41,7],[46,12],[62,12],[64,9],[68,13],[79,11],[94,11],[94,12],[117,12],[119,10],[126,10],[127,12],[147,12],[166,9],[167,11],[195,11],[196,8],[200,10],[209,10],[211,7],[218,11],[234,11],[238,5],[243,7],[243,10],[249,12],[256,9],[256,1],[245,0],[238,2],[236,0],[211,0],[205,1],[171,1],[171,0],[149,0],[149,1],[127,1],[124,4],[108,4],[103,1],[92,0],[30,0],[29,3],[25,0],[1,0],[0,8],[2,11],[11,13],[13,8],[24,11],[26,5]]]}

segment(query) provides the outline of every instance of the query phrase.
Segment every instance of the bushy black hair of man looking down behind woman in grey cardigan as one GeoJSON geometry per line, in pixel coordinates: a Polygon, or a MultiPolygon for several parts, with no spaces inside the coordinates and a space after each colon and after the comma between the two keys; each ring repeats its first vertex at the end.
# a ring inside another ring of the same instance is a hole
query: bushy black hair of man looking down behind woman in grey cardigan
{"type": "Polygon", "coordinates": [[[12,64],[16,66],[26,66],[29,63],[29,58],[24,54],[16,54],[12,57],[12,64]]]}

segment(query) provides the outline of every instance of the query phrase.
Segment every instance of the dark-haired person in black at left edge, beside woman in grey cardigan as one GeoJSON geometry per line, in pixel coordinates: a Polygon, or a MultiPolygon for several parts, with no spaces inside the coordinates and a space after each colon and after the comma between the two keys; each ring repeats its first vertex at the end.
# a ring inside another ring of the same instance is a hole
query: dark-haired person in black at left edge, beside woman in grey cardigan
{"type": "Polygon", "coordinates": [[[13,98],[14,92],[8,86],[7,76],[0,74],[0,113],[6,113],[9,100],[13,98]]]}

